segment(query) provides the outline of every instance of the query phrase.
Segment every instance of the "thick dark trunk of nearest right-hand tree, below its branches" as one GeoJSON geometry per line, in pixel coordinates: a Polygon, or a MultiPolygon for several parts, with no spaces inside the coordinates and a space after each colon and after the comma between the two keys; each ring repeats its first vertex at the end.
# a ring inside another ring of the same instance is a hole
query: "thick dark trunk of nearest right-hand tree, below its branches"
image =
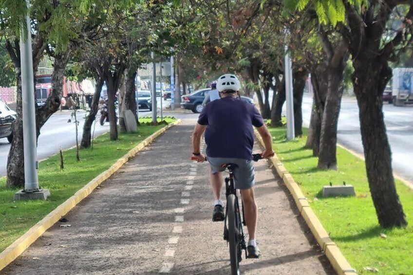
{"type": "Polygon", "coordinates": [[[367,179],[379,224],[401,227],[407,225],[407,221],[394,185],[391,149],[382,111],[382,94],[392,70],[380,56],[366,60],[362,56],[366,55],[353,61],[352,81],[359,107],[367,179]]]}

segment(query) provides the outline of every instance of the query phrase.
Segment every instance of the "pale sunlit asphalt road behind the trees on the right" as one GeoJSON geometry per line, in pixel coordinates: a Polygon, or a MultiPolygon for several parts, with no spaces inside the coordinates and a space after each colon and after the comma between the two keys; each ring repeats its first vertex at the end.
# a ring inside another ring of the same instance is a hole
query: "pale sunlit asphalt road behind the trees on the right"
{"type": "MultiPolygon", "coordinates": [[[[303,121],[308,126],[311,116],[312,97],[304,95],[303,121]]],[[[413,181],[413,106],[394,107],[385,103],[384,120],[392,149],[394,172],[402,178],[413,181]]],[[[338,119],[338,143],[363,154],[360,122],[356,99],[343,98],[338,119]]]]}

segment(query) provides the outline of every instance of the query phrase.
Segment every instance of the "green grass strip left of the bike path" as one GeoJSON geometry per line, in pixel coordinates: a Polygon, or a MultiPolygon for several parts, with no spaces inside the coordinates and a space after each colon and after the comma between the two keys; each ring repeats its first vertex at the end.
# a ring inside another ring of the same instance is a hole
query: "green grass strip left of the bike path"
{"type": "MultiPolygon", "coordinates": [[[[169,123],[173,121],[174,119],[167,119],[169,123]]],[[[108,133],[103,134],[94,139],[93,150],[80,150],[80,162],[76,161],[75,148],[64,151],[64,170],[60,170],[58,155],[40,162],[38,170],[40,188],[49,189],[51,193],[47,201],[13,202],[13,195],[18,189],[6,188],[5,177],[1,178],[0,252],[74,195],[77,190],[107,170],[129,150],[163,127],[165,125],[142,125],[139,126],[137,133],[119,134],[119,139],[116,141],[111,141],[108,133]]],[[[75,133],[68,134],[75,135],[75,133]]]]}

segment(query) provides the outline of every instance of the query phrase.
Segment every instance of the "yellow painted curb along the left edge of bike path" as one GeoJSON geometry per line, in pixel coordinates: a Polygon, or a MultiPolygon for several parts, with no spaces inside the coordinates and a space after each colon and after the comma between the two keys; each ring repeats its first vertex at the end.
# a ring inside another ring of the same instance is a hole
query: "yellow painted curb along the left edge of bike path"
{"type": "Polygon", "coordinates": [[[128,160],[137,152],[142,150],[143,147],[150,144],[155,138],[160,136],[167,129],[179,123],[181,123],[180,119],[151,134],[145,140],[140,142],[136,147],[132,148],[128,153],[126,153],[126,155],[118,159],[111,167],[109,167],[108,170],[95,177],[83,188],[78,190],[72,197],[57,206],[55,210],[50,212],[46,217],[36,223],[23,236],[14,241],[9,247],[7,247],[3,252],[0,253],[0,271],[12,261],[14,261],[17,257],[19,257],[20,254],[23,253],[23,251],[26,250],[26,248],[28,248],[33,242],[35,242],[47,229],[52,227],[58,220],[60,220],[64,215],[72,210],[73,207],[76,206],[76,204],[89,196],[100,183],[104,182],[106,179],[112,176],[114,172],[116,172],[122,165],[128,162],[128,160]]]}

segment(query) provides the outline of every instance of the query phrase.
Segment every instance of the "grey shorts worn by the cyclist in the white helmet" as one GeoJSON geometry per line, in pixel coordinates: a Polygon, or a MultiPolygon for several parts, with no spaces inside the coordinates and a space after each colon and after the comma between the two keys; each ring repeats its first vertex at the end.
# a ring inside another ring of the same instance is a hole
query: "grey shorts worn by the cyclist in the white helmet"
{"type": "Polygon", "coordinates": [[[237,159],[237,158],[211,158],[207,157],[207,160],[211,166],[211,173],[216,174],[221,172],[222,165],[233,163],[237,164],[238,167],[234,169],[234,179],[236,189],[249,189],[254,186],[254,165],[252,161],[237,159]]]}

